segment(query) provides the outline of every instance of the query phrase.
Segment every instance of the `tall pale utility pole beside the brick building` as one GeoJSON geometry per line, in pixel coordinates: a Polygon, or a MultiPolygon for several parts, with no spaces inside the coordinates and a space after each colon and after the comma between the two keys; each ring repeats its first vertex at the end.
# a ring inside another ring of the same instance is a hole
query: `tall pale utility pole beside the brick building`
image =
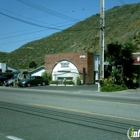
{"type": "MultiPolygon", "coordinates": [[[[104,0],[100,0],[100,67],[99,78],[104,78],[104,29],[105,29],[105,10],[104,0]]],[[[100,83],[98,84],[98,91],[100,91],[100,83]]]]}

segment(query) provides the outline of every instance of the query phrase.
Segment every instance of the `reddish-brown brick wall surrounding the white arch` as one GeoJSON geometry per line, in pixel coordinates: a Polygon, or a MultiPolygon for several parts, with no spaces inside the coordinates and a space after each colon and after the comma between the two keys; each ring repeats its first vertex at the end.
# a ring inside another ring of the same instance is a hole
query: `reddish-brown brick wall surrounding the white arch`
{"type": "MultiPolygon", "coordinates": [[[[49,54],[45,56],[45,69],[47,73],[52,73],[53,68],[58,62],[67,60],[72,62],[80,73],[80,78],[85,77],[85,83],[93,83],[93,54],[92,53],[65,53],[49,54]],[[86,75],[83,75],[85,68],[86,75]]],[[[83,79],[84,80],[84,79],[83,79]]]]}

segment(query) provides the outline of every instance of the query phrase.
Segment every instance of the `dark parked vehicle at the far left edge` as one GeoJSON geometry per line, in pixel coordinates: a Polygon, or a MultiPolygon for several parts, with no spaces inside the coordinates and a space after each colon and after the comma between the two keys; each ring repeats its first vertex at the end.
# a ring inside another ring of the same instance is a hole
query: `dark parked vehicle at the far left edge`
{"type": "Polygon", "coordinates": [[[0,76],[0,86],[4,85],[4,81],[11,79],[14,73],[4,73],[0,76]]]}

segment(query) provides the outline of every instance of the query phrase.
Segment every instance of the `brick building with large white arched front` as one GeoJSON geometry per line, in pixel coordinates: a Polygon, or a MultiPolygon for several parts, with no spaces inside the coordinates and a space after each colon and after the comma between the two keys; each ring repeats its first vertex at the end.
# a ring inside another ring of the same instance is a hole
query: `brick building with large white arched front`
{"type": "MultiPolygon", "coordinates": [[[[96,56],[97,57],[97,56],[96,56]]],[[[45,56],[45,69],[52,74],[53,81],[72,80],[76,83],[80,77],[83,84],[94,83],[98,78],[98,62],[94,67],[94,55],[88,52],[49,54],[45,56]]]]}

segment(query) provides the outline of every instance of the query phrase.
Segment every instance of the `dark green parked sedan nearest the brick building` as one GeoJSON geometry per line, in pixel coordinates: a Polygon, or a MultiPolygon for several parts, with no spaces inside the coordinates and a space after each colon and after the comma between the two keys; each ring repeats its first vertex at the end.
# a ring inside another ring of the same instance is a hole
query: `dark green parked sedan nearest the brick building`
{"type": "Polygon", "coordinates": [[[37,86],[39,84],[44,86],[48,84],[48,81],[41,76],[30,76],[18,82],[19,87],[37,86]]]}

